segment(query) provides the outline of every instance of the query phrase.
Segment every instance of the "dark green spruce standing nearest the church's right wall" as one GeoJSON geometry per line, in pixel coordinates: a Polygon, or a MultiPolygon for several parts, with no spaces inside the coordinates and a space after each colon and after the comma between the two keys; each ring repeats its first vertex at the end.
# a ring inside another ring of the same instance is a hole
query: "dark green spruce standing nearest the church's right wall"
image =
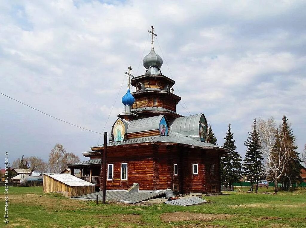
{"type": "Polygon", "coordinates": [[[229,190],[233,191],[233,183],[240,182],[242,178],[242,165],[241,156],[236,152],[237,147],[230,124],[224,139],[225,143],[222,147],[229,150],[229,156],[221,159],[221,182],[222,184],[228,184],[229,190]]]}

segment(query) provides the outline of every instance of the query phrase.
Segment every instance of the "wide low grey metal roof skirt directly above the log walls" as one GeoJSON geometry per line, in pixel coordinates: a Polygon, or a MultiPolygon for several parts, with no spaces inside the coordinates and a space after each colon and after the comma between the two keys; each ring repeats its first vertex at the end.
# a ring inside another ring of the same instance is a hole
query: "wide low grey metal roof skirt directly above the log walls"
{"type": "MultiPolygon", "coordinates": [[[[157,136],[132,138],[132,139],[121,141],[121,142],[111,142],[111,143],[108,143],[107,146],[108,147],[121,146],[121,145],[139,144],[139,143],[147,143],[147,142],[177,143],[177,144],[188,145],[188,146],[196,147],[196,148],[218,148],[218,149],[222,149],[226,151],[226,149],[221,146],[202,142],[200,141],[200,138],[196,139],[193,137],[181,136],[180,134],[173,133],[173,132],[169,132],[168,136],[157,135],[157,136]]],[[[97,147],[103,147],[103,144],[94,146],[92,147],[92,149],[97,148],[97,147]]]]}

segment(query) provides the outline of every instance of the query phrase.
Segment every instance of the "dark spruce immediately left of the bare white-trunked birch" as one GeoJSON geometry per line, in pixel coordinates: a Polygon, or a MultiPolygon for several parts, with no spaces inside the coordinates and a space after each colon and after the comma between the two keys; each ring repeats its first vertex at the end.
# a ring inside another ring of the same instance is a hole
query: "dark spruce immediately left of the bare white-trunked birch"
{"type": "Polygon", "coordinates": [[[258,183],[263,176],[263,155],[260,151],[259,135],[256,130],[256,119],[254,119],[252,132],[248,133],[247,141],[244,141],[247,148],[245,159],[243,160],[244,175],[247,181],[251,182],[251,191],[253,184],[256,183],[255,191],[258,191],[258,183]]]}

